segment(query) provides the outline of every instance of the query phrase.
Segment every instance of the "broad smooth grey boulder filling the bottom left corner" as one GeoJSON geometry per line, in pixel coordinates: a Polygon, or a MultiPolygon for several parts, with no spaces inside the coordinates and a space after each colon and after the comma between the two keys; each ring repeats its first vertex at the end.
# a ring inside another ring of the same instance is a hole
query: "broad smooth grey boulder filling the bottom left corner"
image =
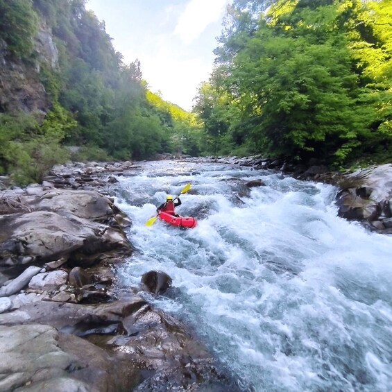
{"type": "Polygon", "coordinates": [[[115,392],[135,384],[121,356],[49,325],[0,326],[0,355],[7,358],[1,392],[115,392]]]}

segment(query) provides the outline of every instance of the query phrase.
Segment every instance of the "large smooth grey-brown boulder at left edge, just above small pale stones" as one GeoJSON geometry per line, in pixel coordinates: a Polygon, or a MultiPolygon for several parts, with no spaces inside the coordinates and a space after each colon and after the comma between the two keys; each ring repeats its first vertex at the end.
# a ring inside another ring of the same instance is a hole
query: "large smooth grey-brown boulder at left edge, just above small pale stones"
{"type": "Polygon", "coordinates": [[[123,232],[56,212],[36,211],[6,216],[6,230],[0,243],[0,266],[15,266],[58,260],[60,257],[95,264],[101,253],[117,250],[130,253],[123,232]]]}

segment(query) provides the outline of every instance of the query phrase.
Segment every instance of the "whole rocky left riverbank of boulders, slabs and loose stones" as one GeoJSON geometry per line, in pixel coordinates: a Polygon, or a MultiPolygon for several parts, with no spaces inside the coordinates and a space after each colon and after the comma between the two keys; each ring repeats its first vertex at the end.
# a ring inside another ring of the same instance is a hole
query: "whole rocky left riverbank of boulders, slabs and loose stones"
{"type": "Polygon", "coordinates": [[[69,164],[0,192],[0,391],[235,389],[185,325],[138,295],[163,293],[168,275],[117,287],[131,222],[108,194],[134,168],[69,164]]]}

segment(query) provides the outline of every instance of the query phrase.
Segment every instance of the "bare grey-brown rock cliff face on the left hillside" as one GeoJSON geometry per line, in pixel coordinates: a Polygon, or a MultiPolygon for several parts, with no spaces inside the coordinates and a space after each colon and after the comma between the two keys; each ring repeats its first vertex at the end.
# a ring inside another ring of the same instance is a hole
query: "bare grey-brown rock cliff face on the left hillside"
{"type": "Polygon", "coordinates": [[[40,23],[28,60],[12,56],[0,40],[0,112],[47,112],[50,100],[40,82],[42,66],[58,68],[58,50],[50,29],[40,23]]]}

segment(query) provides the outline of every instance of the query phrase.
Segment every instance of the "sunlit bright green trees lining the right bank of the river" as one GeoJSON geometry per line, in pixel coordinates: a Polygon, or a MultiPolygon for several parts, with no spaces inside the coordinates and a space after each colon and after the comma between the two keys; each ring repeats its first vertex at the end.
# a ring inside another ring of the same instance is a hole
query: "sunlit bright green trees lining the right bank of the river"
{"type": "Polygon", "coordinates": [[[391,162],[391,0],[235,0],[195,110],[216,153],[391,162]]]}

